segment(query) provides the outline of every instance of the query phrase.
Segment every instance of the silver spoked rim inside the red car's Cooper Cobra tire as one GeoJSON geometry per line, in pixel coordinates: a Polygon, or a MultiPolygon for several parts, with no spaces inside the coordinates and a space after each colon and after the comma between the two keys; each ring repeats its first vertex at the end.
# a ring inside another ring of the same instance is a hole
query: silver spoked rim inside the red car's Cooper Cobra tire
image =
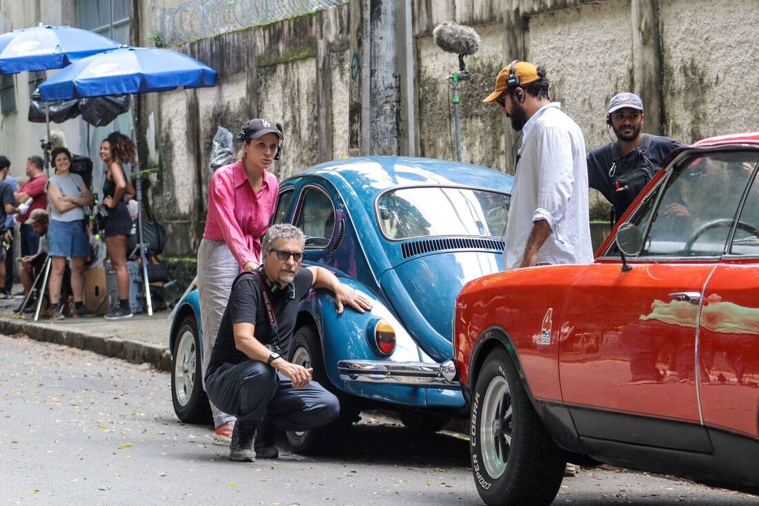
{"type": "Polygon", "coordinates": [[[483,466],[493,479],[499,478],[506,469],[513,423],[509,382],[498,376],[485,391],[479,428],[483,466]]]}

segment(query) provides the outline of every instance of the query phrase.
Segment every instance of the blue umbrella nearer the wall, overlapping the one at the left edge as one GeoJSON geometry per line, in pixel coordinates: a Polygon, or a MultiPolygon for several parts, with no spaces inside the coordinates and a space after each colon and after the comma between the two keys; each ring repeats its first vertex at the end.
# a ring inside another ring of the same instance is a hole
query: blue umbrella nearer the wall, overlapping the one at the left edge
{"type": "Polygon", "coordinates": [[[216,71],[171,49],[122,48],[83,58],[39,86],[45,101],[216,84],[216,71]]]}

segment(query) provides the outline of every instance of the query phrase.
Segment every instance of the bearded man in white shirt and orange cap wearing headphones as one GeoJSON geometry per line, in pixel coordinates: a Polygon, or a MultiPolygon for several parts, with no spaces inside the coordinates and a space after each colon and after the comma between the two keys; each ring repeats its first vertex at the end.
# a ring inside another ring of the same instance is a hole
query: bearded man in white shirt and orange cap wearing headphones
{"type": "Polygon", "coordinates": [[[503,268],[593,261],[585,140],[548,96],[546,71],[512,61],[483,102],[497,102],[524,134],[506,225],[503,268]]]}

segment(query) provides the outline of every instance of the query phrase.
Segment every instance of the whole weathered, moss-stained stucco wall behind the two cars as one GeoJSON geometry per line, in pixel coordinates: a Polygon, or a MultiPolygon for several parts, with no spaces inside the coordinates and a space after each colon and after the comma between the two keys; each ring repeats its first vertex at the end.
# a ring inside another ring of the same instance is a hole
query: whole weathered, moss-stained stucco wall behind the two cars
{"type": "MultiPolygon", "coordinates": [[[[189,241],[183,235],[172,243],[171,253],[192,254],[197,247],[206,212],[209,149],[219,124],[236,132],[250,117],[282,121],[285,156],[275,168],[280,178],[317,162],[363,154],[372,146],[362,139],[373,131],[367,111],[381,108],[370,107],[375,97],[362,83],[371,72],[363,66],[372,61],[364,50],[382,51],[387,45],[373,35],[364,40],[363,30],[377,30],[378,24],[374,18],[364,23],[361,9],[379,3],[351,0],[339,8],[178,47],[217,68],[219,84],[213,90],[167,93],[143,102],[143,135],[147,113],[157,108],[160,116],[153,133],[160,170],[151,195],[172,227],[191,235],[189,241]]],[[[140,36],[153,30],[148,15],[167,5],[177,2],[140,2],[140,36]]],[[[460,89],[465,162],[513,170],[517,137],[508,119],[482,102],[496,74],[513,58],[546,67],[552,98],[578,122],[588,149],[609,141],[606,105],[623,90],[640,93],[650,105],[644,124],[650,133],[691,142],[756,127],[757,107],[750,99],[759,77],[755,2],[419,0],[411,9],[411,109],[404,105],[409,98],[402,85],[406,67],[400,61],[404,53],[397,49],[409,41],[396,41],[396,66],[387,74],[398,93],[388,108],[397,121],[398,140],[391,144],[398,152],[413,145],[420,156],[455,158],[446,76],[458,70],[458,58],[437,48],[431,36],[444,20],[475,27],[482,39],[480,51],[466,58],[471,79],[460,89]],[[410,114],[416,115],[411,127],[410,114]],[[402,139],[409,132],[414,142],[402,139]]],[[[394,12],[394,33],[403,37],[402,9],[394,12]]],[[[382,61],[379,57],[376,61],[382,61]]]]}

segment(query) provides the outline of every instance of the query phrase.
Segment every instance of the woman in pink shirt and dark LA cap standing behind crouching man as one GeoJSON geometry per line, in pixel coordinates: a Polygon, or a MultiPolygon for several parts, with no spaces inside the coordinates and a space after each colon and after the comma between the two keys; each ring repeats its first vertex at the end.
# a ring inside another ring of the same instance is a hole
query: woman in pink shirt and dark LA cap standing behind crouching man
{"type": "MultiPolygon", "coordinates": [[[[260,264],[260,238],[269,227],[276,206],[279,182],[269,172],[279,159],[282,129],[257,118],[247,121],[238,140],[240,159],[219,168],[208,187],[206,231],[197,251],[200,320],[203,325],[203,375],[219,332],[232,281],[240,272],[260,264]]],[[[235,416],[211,404],[216,432],[213,442],[229,445],[235,416]]]]}

